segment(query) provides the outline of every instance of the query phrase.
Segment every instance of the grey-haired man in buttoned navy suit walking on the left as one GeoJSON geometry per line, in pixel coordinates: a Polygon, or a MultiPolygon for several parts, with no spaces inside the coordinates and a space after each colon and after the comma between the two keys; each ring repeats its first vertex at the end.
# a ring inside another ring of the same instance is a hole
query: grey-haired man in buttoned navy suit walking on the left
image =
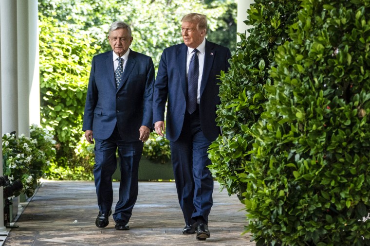
{"type": "Polygon", "coordinates": [[[138,194],[139,161],[152,126],[154,66],[149,56],[129,49],[133,38],[125,22],[112,23],[108,38],[113,51],[92,59],[83,131],[88,142],[95,140],[95,225],[109,224],[118,148],[121,182],[113,219],[117,230],[128,230],[138,194]]]}

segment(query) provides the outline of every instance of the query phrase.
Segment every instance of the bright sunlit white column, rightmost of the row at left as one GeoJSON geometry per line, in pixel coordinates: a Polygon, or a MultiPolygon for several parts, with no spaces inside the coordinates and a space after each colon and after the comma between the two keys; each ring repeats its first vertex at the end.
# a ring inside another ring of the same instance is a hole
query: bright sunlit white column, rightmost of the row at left
{"type": "Polygon", "coordinates": [[[38,62],[38,4],[28,1],[29,124],[40,125],[40,74],[38,62]]]}

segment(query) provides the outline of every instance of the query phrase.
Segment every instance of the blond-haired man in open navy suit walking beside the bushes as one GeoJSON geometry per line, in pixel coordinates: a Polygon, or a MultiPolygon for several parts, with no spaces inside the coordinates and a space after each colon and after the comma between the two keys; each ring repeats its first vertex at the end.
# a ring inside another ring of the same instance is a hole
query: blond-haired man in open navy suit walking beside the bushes
{"type": "Polygon", "coordinates": [[[220,104],[218,75],[229,68],[229,49],[205,39],[207,20],[201,14],[185,15],[184,43],[166,48],[154,84],[155,131],[170,141],[171,159],[184,234],[209,238],[208,214],[212,207],[213,178],[207,149],[220,134],[216,105],[220,104]]]}

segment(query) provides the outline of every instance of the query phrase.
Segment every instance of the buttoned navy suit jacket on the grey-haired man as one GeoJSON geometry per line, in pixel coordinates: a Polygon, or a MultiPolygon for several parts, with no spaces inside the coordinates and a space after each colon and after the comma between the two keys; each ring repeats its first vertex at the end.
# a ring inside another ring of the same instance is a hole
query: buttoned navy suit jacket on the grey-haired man
{"type": "Polygon", "coordinates": [[[130,50],[117,89],[113,51],[92,58],[82,130],[108,139],[115,125],[124,141],[140,141],[139,128],[152,128],[154,65],[151,57],[130,50]]]}

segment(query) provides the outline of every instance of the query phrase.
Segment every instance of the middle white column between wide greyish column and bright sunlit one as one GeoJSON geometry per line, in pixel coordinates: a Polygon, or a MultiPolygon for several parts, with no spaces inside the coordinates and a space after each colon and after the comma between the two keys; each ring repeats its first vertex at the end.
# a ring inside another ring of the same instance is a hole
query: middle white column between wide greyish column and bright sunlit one
{"type": "Polygon", "coordinates": [[[18,132],[30,137],[28,2],[17,0],[18,132]]]}

